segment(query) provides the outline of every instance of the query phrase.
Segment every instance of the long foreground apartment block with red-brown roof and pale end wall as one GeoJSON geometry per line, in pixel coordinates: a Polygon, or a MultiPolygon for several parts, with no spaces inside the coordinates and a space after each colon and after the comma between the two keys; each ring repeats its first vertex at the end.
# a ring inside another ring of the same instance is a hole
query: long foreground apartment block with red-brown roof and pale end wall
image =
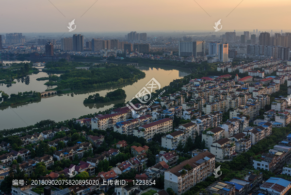
{"type": "Polygon", "coordinates": [[[215,156],[207,151],[199,153],[165,171],[164,189],[172,188],[177,195],[181,195],[211,176],[214,169],[215,156]]]}

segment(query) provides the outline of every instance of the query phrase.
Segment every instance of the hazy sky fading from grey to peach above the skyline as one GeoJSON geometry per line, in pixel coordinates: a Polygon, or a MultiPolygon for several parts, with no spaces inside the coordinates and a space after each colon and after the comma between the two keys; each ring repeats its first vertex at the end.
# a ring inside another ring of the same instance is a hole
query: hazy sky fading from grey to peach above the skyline
{"type": "Polygon", "coordinates": [[[291,29],[291,0],[195,1],[0,0],[0,33],[65,33],[73,19],[76,32],[212,32],[219,19],[222,31],[291,29]]]}

